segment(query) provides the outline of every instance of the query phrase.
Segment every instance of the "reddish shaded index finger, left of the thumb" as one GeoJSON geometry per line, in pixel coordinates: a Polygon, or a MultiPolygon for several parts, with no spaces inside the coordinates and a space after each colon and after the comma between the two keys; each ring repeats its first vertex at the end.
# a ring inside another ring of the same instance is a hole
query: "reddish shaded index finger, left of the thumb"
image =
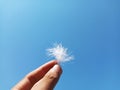
{"type": "Polygon", "coordinates": [[[55,64],[56,60],[50,61],[25,76],[12,90],[30,90],[55,64]]]}

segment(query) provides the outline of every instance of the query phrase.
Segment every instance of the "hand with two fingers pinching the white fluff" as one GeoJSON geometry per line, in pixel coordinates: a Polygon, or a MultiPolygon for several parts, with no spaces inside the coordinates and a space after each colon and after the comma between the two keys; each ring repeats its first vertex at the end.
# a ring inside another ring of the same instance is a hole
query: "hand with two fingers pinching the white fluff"
{"type": "Polygon", "coordinates": [[[52,60],[26,75],[12,90],[53,90],[61,74],[60,65],[52,60]]]}

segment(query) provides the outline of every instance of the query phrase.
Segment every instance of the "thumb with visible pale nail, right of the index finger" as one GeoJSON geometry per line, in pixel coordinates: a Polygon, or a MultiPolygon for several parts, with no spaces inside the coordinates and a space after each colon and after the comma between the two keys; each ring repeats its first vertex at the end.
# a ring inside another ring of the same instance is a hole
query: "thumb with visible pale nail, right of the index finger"
{"type": "Polygon", "coordinates": [[[53,90],[62,73],[60,65],[56,64],[38,81],[31,90],[53,90]]]}

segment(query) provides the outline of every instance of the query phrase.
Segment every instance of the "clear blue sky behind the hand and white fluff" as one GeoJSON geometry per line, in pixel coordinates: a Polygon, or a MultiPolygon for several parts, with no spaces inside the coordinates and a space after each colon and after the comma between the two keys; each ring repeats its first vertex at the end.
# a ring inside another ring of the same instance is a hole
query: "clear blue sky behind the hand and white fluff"
{"type": "Polygon", "coordinates": [[[0,0],[0,90],[51,60],[55,42],[75,56],[55,90],[120,90],[120,0],[0,0]]]}

